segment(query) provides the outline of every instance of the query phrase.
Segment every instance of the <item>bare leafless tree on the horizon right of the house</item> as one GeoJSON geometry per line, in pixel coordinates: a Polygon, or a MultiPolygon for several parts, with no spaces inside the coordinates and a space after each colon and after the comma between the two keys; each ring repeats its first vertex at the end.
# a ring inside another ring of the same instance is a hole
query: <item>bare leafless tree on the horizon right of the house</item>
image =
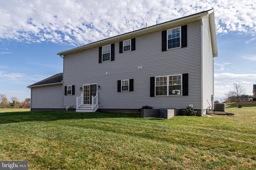
{"type": "Polygon", "coordinates": [[[241,84],[241,82],[234,82],[233,83],[233,88],[229,92],[225,93],[225,96],[227,99],[230,99],[231,102],[234,102],[235,99],[238,102],[240,99],[240,96],[244,95],[245,93],[245,88],[241,84]]]}

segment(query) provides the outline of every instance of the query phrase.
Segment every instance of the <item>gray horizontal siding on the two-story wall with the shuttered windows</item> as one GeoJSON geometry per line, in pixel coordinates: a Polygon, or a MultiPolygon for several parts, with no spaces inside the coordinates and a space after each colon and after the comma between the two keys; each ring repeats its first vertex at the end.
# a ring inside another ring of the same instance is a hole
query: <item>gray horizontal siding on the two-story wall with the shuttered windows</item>
{"type": "Polygon", "coordinates": [[[201,109],[200,21],[187,24],[188,41],[184,48],[162,52],[161,31],[134,38],[135,51],[119,53],[119,42],[115,43],[114,61],[98,63],[98,48],[65,55],[63,83],[64,86],[75,85],[75,95],[64,96],[64,106],[76,106],[76,97],[80,96],[79,88],[83,84],[98,84],[101,109],[137,109],[145,105],[185,108],[190,104],[201,109]],[[139,70],[138,66],[143,69],[139,70]],[[188,96],[150,97],[150,77],[186,73],[188,96]],[[134,91],[117,92],[117,80],[127,79],[134,79],[134,91]]]}

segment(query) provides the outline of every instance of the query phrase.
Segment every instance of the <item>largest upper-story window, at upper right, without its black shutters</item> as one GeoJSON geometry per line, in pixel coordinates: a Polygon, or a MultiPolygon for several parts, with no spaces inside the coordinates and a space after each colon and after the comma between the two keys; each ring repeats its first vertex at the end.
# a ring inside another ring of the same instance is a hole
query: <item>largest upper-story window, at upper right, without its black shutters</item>
{"type": "Polygon", "coordinates": [[[168,30],[168,49],[180,47],[180,27],[168,30]]]}

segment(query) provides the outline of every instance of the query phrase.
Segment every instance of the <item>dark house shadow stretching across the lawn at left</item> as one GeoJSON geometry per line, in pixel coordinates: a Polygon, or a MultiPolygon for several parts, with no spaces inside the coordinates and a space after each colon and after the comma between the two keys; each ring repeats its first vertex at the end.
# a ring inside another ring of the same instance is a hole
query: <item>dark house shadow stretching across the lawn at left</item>
{"type": "Polygon", "coordinates": [[[0,124],[26,121],[56,121],[68,119],[100,119],[100,118],[140,118],[139,114],[132,113],[103,113],[72,111],[26,111],[0,113],[0,124]]]}

